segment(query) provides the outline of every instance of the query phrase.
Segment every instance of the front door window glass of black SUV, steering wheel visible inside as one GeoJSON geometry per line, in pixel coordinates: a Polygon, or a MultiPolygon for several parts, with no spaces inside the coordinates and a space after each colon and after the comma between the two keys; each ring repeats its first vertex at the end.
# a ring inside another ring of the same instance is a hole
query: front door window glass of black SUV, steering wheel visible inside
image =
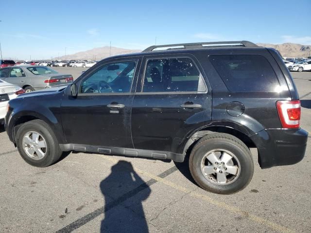
{"type": "Polygon", "coordinates": [[[83,81],[80,93],[130,92],[135,68],[136,61],[106,64],[83,81]]]}

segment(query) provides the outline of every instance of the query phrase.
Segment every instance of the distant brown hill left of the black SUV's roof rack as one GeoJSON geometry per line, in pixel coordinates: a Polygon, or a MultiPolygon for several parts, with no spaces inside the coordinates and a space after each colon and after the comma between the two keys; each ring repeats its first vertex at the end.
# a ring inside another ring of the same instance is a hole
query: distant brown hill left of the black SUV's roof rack
{"type": "MultiPolygon", "coordinates": [[[[126,54],[126,53],[135,53],[135,52],[140,52],[141,50],[128,50],[128,49],[122,49],[122,48],[117,48],[117,47],[111,47],[111,56],[113,55],[119,55],[119,54],[126,54]]],[[[74,54],[69,54],[66,57],[61,56],[61,57],[55,57],[55,59],[60,59],[60,60],[65,60],[65,59],[70,59],[70,60],[78,60],[78,59],[90,59],[90,60],[100,60],[105,57],[110,56],[110,47],[109,46],[104,46],[101,48],[94,48],[91,50],[86,50],[86,51],[81,51],[77,52],[74,54]]]]}

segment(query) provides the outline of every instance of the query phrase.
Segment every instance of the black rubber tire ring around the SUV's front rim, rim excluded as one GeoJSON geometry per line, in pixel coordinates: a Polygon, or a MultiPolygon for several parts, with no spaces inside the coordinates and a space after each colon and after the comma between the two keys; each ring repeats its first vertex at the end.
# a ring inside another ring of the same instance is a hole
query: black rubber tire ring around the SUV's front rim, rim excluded
{"type": "Polygon", "coordinates": [[[29,122],[22,125],[17,131],[17,149],[21,157],[28,164],[32,166],[45,167],[51,165],[54,162],[55,155],[57,154],[57,142],[55,142],[55,139],[53,138],[52,134],[49,132],[48,129],[38,123],[29,122]],[[47,151],[46,155],[40,160],[30,158],[23,149],[23,136],[30,131],[40,133],[45,139],[47,151]]]}

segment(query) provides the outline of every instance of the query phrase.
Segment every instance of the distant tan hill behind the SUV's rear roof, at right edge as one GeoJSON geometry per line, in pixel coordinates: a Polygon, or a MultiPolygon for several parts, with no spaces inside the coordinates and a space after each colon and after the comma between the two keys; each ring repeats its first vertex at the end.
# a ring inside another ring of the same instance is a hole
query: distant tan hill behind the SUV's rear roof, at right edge
{"type": "Polygon", "coordinates": [[[311,56],[310,45],[300,45],[300,44],[293,44],[293,43],[285,43],[285,44],[280,44],[280,45],[258,43],[257,45],[279,50],[279,52],[282,54],[283,57],[305,57],[307,58],[308,56],[311,56]]]}

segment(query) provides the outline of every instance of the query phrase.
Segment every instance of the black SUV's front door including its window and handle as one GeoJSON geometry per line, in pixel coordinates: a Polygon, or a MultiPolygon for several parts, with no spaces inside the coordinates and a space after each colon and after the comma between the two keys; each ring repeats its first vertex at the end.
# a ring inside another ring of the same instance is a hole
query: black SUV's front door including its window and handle
{"type": "Polygon", "coordinates": [[[140,63],[141,57],[114,59],[86,71],[76,82],[77,97],[62,100],[67,143],[133,148],[131,108],[140,63]]]}

